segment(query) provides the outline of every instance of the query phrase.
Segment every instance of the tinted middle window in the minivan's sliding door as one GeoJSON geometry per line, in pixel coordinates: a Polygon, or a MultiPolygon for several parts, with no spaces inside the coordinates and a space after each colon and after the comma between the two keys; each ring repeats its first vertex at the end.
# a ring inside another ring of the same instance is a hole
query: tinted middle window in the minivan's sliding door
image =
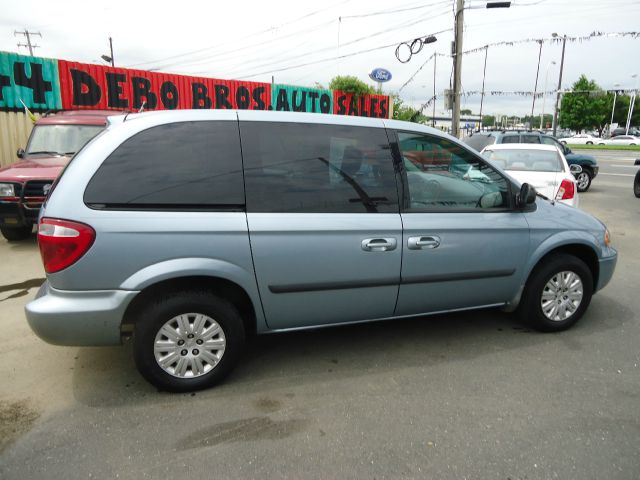
{"type": "Polygon", "coordinates": [[[242,122],[248,212],[398,212],[384,129],[242,122]]]}

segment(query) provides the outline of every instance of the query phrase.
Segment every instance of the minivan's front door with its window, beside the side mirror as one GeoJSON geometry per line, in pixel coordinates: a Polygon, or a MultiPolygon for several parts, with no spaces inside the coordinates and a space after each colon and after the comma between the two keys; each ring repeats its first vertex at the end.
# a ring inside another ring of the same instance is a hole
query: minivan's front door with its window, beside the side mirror
{"type": "Polygon", "coordinates": [[[509,181],[458,144],[397,132],[405,173],[396,315],[504,304],[529,248],[509,181]]]}

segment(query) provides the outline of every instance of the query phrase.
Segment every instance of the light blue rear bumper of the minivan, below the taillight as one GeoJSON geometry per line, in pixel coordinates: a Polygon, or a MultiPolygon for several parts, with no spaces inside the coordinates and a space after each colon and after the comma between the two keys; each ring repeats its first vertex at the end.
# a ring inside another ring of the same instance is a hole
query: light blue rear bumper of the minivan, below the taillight
{"type": "Polygon", "coordinates": [[[54,345],[118,345],[130,290],[65,291],[44,282],[25,307],[29,326],[54,345]]]}

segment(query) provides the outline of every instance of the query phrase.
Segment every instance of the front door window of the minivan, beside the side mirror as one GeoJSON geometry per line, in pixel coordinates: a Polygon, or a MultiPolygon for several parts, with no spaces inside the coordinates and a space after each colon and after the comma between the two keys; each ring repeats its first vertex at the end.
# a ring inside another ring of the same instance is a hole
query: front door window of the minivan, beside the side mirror
{"type": "Polygon", "coordinates": [[[408,212],[508,208],[509,183],[461,146],[419,133],[398,132],[407,175],[408,212]]]}

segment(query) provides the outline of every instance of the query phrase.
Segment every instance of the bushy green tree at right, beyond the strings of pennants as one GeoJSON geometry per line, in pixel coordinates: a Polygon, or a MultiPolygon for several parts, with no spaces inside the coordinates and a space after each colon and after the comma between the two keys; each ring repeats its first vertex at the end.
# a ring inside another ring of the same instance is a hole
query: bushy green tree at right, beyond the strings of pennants
{"type": "Polygon", "coordinates": [[[594,80],[581,75],[562,97],[559,125],[577,132],[591,128],[602,132],[609,122],[607,113],[611,114],[609,97],[594,80]]]}

